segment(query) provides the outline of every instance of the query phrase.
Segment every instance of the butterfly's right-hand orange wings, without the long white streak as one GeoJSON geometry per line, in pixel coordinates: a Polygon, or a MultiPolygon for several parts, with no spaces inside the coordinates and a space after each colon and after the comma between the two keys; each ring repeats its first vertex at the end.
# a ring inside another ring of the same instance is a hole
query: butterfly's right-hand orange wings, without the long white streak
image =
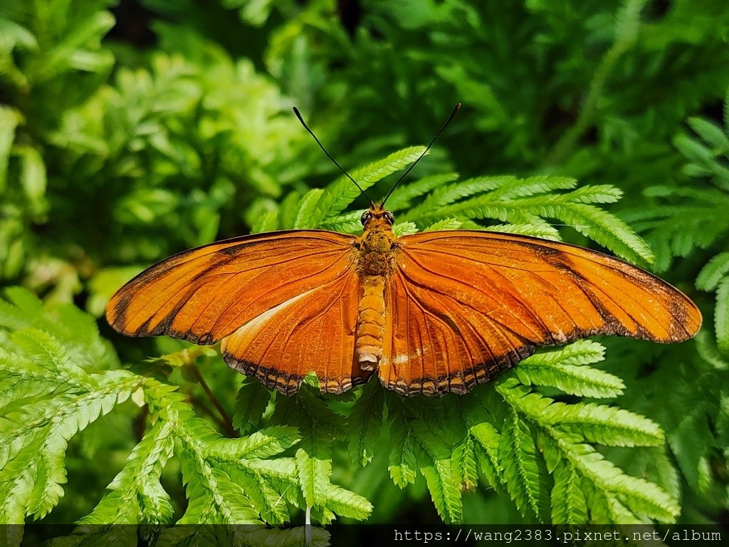
{"type": "Polygon", "coordinates": [[[405,395],[467,392],[536,346],[602,334],[677,342],[701,326],[682,292],[600,252],[467,230],[397,242],[379,374],[405,395]]]}

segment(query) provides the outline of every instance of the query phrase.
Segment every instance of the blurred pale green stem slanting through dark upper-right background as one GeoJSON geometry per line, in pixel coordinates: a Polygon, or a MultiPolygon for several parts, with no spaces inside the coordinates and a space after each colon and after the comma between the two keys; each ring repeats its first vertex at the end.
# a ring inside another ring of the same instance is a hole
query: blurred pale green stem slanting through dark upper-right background
{"type": "Polygon", "coordinates": [[[556,144],[552,147],[550,152],[547,153],[547,158],[544,161],[545,166],[557,165],[564,161],[569,152],[572,152],[574,145],[577,144],[577,139],[580,139],[585,131],[588,131],[590,124],[593,122],[593,117],[597,111],[597,103],[602,96],[602,91],[605,87],[605,82],[610,72],[612,72],[617,60],[628,51],[634,44],[637,36],[637,31],[623,31],[620,32],[618,26],[622,23],[623,29],[633,26],[638,28],[640,23],[640,12],[644,4],[644,0],[628,0],[623,8],[623,13],[618,13],[616,23],[616,38],[607,53],[601,59],[595,73],[593,74],[592,80],[590,81],[590,87],[588,88],[588,94],[585,97],[585,101],[582,102],[582,108],[580,114],[577,116],[577,121],[569,128],[566,133],[559,139],[556,144]]]}

